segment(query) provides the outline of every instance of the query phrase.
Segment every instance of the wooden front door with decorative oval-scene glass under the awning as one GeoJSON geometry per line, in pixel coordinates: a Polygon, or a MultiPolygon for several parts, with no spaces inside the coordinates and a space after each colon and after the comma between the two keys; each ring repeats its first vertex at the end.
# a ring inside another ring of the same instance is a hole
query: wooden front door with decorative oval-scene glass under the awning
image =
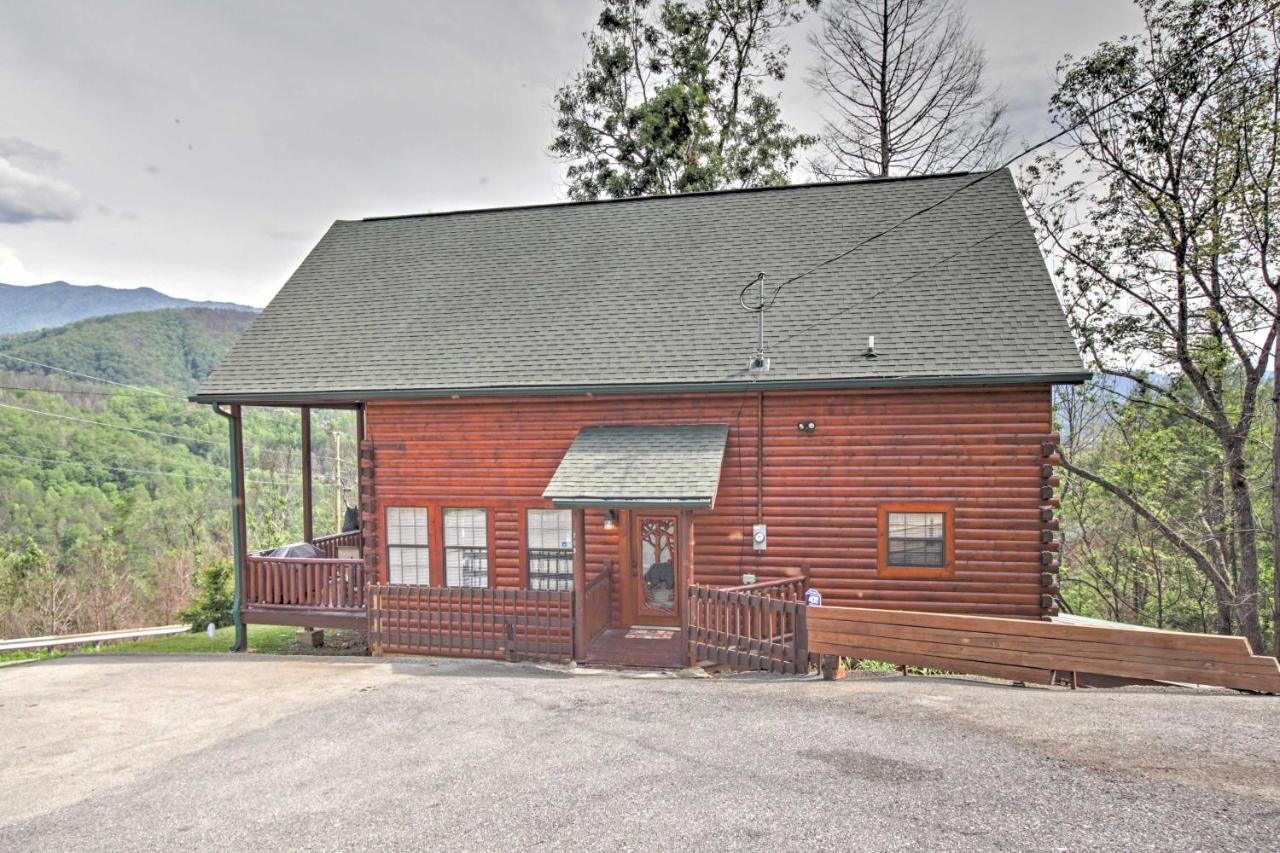
{"type": "Polygon", "coordinates": [[[684,584],[680,516],[637,512],[631,521],[631,571],[625,615],[631,625],[678,625],[684,584]]]}

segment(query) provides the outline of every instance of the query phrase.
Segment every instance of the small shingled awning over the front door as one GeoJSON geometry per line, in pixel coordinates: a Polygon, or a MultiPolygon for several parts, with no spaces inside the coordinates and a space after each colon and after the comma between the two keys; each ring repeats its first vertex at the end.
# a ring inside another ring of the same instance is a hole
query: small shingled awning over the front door
{"type": "Polygon", "coordinates": [[[563,507],[710,507],[727,443],[727,424],[585,426],[543,497],[563,507]]]}

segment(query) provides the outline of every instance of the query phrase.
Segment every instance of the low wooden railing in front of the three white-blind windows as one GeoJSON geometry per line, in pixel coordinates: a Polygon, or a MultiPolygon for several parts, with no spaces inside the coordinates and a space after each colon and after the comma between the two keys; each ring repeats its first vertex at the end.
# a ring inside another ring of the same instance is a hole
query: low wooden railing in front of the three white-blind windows
{"type": "Polygon", "coordinates": [[[375,584],[369,644],[375,654],[568,661],[573,593],[375,584]]]}

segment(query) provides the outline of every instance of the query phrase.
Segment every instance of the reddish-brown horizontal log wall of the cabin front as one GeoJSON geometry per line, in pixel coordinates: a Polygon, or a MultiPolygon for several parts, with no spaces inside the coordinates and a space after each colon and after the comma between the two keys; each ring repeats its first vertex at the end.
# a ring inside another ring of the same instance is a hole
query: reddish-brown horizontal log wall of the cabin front
{"type": "MultiPolygon", "coordinates": [[[[369,520],[376,528],[392,503],[484,506],[492,578],[520,587],[524,510],[549,506],[541,492],[579,429],[726,423],[716,508],[694,516],[695,583],[727,587],[744,573],[767,579],[808,566],[831,605],[1028,617],[1051,605],[1047,386],[765,394],[764,552],[750,543],[756,416],[754,393],[371,401],[369,520]],[[800,421],[814,432],[799,430],[800,421]],[[901,502],[955,507],[947,576],[881,571],[878,508],[901,502]]],[[[618,532],[602,521],[588,511],[589,579],[605,560],[620,561],[618,532]]]]}

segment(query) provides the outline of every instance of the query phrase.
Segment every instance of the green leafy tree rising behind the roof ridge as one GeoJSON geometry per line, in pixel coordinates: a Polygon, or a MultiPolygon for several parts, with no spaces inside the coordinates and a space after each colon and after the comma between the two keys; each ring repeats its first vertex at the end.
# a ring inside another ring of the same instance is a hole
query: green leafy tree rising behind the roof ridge
{"type": "Polygon", "coordinates": [[[764,91],[781,32],[818,0],[604,0],[590,58],[556,93],[550,152],[573,199],[782,184],[813,137],[764,91]]]}

